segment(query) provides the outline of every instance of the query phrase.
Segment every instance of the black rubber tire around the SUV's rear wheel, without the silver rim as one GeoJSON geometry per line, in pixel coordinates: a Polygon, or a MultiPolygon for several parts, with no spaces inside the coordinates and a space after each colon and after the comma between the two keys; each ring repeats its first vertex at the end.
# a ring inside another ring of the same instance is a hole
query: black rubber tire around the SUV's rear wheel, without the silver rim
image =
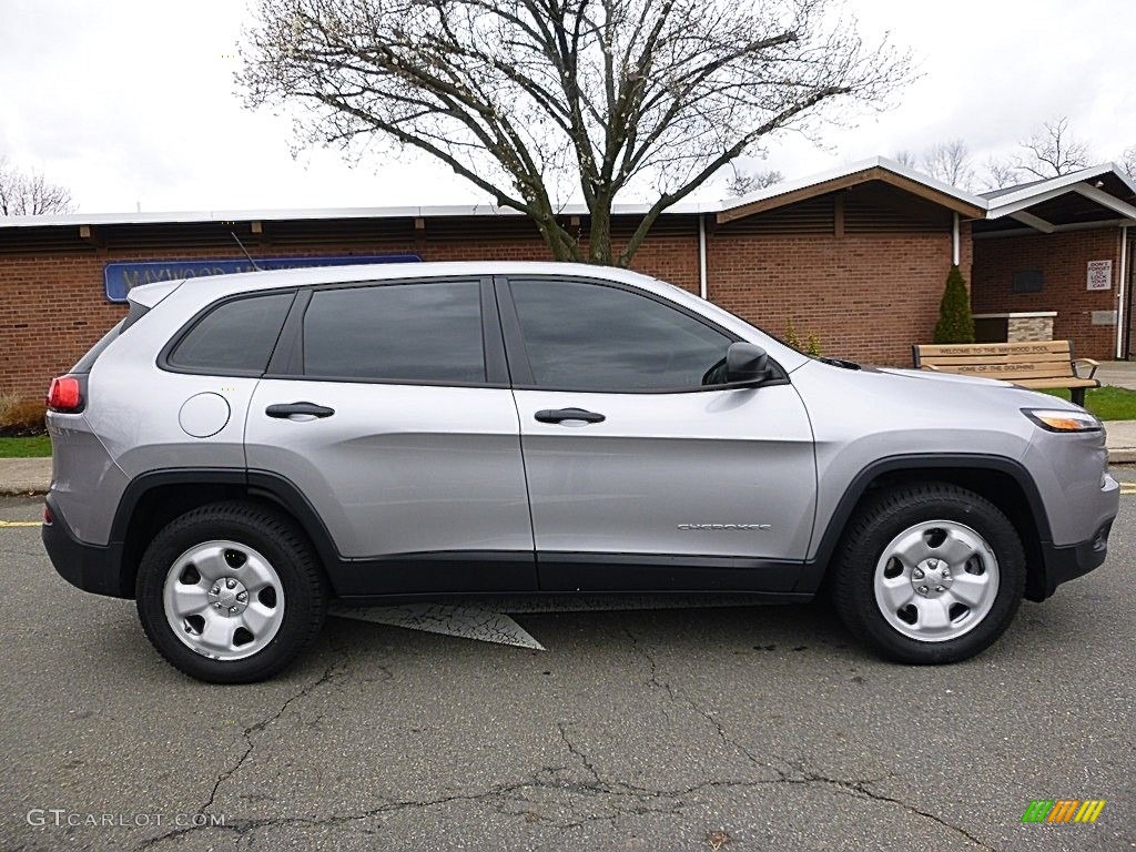
{"type": "Polygon", "coordinates": [[[170,521],[142,557],[135,593],[142,628],[158,652],[190,677],[215,684],[254,683],[282,671],[319,634],[328,599],[323,569],[300,527],[269,506],[247,501],[212,503],[170,521]],[[243,659],[215,660],[194,652],[166,618],[164,588],[175,560],[215,540],[262,554],[283,586],[279,627],[265,648],[243,659]]]}

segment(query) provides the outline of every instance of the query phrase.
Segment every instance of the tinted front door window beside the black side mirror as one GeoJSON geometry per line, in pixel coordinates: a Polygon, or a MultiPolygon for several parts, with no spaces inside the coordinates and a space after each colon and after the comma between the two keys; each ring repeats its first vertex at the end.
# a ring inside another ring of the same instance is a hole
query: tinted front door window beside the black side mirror
{"type": "Polygon", "coordinates": [[[694,389],[733,342],[674,308],[582,282],[510,281],[536,384],[576,391],[694,389]]]}

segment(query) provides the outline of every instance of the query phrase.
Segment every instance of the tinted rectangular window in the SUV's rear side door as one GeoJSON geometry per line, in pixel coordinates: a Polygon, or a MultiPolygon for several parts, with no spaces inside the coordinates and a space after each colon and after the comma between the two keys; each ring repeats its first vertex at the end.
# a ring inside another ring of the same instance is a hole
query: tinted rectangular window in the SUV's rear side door
{"type": "Polygon", "coordinates": [[[384,284],[312,293],[303,371],[327,378],[485,381],[481,285],[384,284]]]}

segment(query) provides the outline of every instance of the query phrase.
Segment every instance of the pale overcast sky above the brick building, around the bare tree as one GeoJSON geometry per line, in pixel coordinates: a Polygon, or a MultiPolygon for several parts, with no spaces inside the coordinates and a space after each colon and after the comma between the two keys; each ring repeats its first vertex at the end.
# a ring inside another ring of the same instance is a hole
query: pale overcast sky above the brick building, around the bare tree
{"type": "MultiPolygon", "coordinates": [[[[1129,2],[850,0],[847,9],[866,35],[889,30],[911,48],[922,76],[895,109],[826,131],[824,147],[772,140],[759,167],[800,177],[954,136],[982,164],[1062,115],[1095,160],[1136,144],[1129,2]]],[[[429,161],[293,158],[289,120],[243,109],[233,84],[248,15],[244,0],[0,0],[0,154],[70,187],[83,212],[484,200],[429,161]]],[[[724,194],[719,185],[702,197],[724,194]]]]}

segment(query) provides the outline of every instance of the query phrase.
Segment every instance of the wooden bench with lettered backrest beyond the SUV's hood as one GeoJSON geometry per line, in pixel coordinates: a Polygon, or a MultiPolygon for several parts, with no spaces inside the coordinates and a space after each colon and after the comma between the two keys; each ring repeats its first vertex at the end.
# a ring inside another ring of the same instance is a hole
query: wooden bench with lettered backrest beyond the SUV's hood
{"type": "Polygon", "coordinates": [[[1088,358],[1074,358],[1072,344],[1067,340],[1036,343],[952,343],[911,348],[918,369],[959,373],[1012,382],[1022,387],[1067,387],[1072,401],[1085,404],[1085,391],[1100,387],[1093,378],[1097,362],[1088,358]],[[1089,367],[1080,376],[1077,367],[1089,367]]]}

